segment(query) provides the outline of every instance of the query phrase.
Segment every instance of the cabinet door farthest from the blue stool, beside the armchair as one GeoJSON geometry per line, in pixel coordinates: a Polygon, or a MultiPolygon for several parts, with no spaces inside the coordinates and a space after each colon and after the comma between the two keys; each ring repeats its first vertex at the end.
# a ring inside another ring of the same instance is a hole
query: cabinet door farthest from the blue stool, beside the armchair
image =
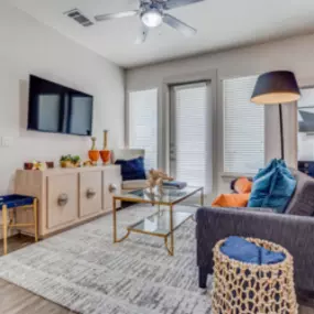
{"type": "MultiPolygon", "coordinates": [[[[120,166],[108,167],[102,171],[104,175],[104,210],[112,210],[112,196],[121,193],[121,169],[120,166]]],[[[120,202],[117,202],[117,207],[120,207],[120,202]]]]}

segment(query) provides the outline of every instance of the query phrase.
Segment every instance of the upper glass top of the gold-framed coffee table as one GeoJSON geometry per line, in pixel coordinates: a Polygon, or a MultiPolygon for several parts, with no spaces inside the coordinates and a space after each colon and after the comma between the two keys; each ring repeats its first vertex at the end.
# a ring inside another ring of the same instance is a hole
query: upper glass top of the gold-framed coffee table
{"type": "Polygon", "coordinates": [[[151,204],[161,204],[161,205],[174,205],[182,202],[183,199],[201,192],[203,187],[192,187],[187,186],[182,190],[176,188],[164,188],[162,196],[151,195],[148,188],[128,191],[121,194],[115,195],[115,198],[126,201],[126,202],[136,202],[136,203],[151,203],[151,204]]]}

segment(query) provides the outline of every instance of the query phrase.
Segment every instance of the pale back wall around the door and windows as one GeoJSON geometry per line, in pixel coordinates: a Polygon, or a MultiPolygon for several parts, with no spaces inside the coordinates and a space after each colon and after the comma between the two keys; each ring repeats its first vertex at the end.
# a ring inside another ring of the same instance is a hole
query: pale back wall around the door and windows
{"type": "MultiPolygon", "coordinates": [[[[217,71],[218,100],[217,129],[218,139],[214,165],[218,173],[216,192],[228,191],[228,182],[220,178],[223,172],[223,104],[220,80],[228,77],[257,75],[272,69],[290,69],[296,74],[301,86],[314,85],[314,35],[300,36],[280,42],[238,48],[228,52],[207,54],[181,61],[149,65],[127,71],[127,89],[159,87],[166,77],[191,75],[208,69],[217,71]]],[[[160,91],[162,93],[162,91],[160,91]]],[[[160,95],[160,99],[163,99],[160,95]]],[[[296,161],[296,111],[295,105],[284,107],[285,154],[290,165],[296,161]]],[[[267,160],[280,156],[278,106],[268,106],[266,112],[266,154],[267,160]]]]}

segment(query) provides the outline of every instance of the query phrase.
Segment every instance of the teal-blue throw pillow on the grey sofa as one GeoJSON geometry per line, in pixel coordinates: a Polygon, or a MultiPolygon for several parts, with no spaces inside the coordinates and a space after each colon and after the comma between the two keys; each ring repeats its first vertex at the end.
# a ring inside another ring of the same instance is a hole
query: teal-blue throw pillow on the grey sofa
{"type": "Polygon", "coordinates": [[[296,181],[282,160],[272,160],[253,180],[248,207],[270,207],[284,213],[296,181]]]}

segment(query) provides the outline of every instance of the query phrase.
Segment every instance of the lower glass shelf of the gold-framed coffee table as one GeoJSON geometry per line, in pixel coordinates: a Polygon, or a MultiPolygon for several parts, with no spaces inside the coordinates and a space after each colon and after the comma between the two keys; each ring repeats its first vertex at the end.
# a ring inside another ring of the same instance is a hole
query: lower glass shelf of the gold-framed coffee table
{"type": "MultiPolygon", "coordinates": [[[[170,210],[160,210],[137,224],[129,226],[128,230],[133,232],[150,234],[165,237],[171,234],[170,229],[170,210]]],[[[173,230],[178,228],[185,220],[193,216],[191,213],[173,212],[172,214],[173,230]]]]}

